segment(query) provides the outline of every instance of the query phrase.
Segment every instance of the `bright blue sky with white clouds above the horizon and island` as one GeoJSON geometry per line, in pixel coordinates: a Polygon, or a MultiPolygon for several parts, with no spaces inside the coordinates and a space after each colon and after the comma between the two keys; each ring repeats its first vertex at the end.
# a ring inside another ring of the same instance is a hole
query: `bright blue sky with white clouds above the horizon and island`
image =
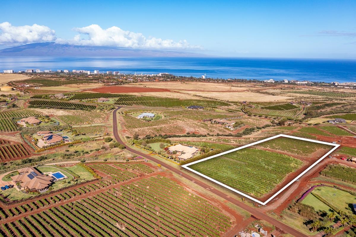
{"type": "Polygon", "coordinates": [[[356,1],[1,0],[0,4],[0,23],[10,24],[0,25],[0,48],[56,40],[232,57],[356,58],[356,1]],[[39,32],[26,36],[26,30],[39,32]]]}

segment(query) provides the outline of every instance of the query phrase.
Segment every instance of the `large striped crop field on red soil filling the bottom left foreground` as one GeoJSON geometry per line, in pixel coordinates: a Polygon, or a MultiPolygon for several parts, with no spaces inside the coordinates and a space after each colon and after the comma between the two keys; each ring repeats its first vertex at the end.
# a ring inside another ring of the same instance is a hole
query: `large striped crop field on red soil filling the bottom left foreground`
{"type": "Polygon", "coordinates": [[[6,223],[1,234],[28,236],[28,230],[36,230],[39,236],[219,236],[228,228],[230,218],[217,207],[167,178],[152,177],[6,223]],[[180,199],[185,204],[173,209],[171,202],[180,199]]]}

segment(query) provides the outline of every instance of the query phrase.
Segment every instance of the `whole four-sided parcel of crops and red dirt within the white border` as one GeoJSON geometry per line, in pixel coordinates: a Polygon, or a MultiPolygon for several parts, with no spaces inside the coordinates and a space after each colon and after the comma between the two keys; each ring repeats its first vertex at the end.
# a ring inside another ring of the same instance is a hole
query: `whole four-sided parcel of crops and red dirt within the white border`
{"type": "MultiPolygon", "coordinates": [[[[266,199],[271,195],[272,190],[282,191],[287,188],[337,146],[326,142],[313,142],[310,139],[277,135],[183,167],[215,183],[223,184],[226,188],[232,188],[231,190],[237,193],[245,194],[244,196],[248,198],[253,196],[266,199]],[[293,146],[283,145],[291,142],[293,146]],[[272,145],[274,149],[269,148],[272,145]],[[309,147],[309,152],[304,148],[305,146],[309,147]],[[314,156],[315,151],[323,153],[314,156]]],[[[265,203],[280,191],[269,197],[265,203]]],[[[263,204],[253,197],[252,200],[263,204]]]]}

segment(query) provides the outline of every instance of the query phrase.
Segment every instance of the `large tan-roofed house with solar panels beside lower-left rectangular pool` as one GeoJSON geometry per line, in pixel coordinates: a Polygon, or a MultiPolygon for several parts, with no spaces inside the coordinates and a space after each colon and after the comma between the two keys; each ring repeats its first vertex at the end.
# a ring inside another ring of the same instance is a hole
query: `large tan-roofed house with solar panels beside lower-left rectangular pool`
{"type": "Polygon", "coordinates": [[[27,167],[19,170],[18,175],[12,176],[11,179],[15,185],[19,184],[21,190],[25,191],[39,191],[40,193],[48,190],[49,185],[52,184],[52,177],[41,174],[33,167],[27,167]]]}

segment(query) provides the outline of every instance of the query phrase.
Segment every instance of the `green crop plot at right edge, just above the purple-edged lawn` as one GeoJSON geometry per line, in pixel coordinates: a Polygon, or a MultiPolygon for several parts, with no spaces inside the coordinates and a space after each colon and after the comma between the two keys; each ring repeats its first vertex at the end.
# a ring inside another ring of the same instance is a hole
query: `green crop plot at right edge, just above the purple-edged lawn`
{"type": "Polygon", "coordinates": [[[341,180],[347,183],[356,184],[356,168],[345,165],[329,164],[320,172],[325,177],[341,180]]]}

